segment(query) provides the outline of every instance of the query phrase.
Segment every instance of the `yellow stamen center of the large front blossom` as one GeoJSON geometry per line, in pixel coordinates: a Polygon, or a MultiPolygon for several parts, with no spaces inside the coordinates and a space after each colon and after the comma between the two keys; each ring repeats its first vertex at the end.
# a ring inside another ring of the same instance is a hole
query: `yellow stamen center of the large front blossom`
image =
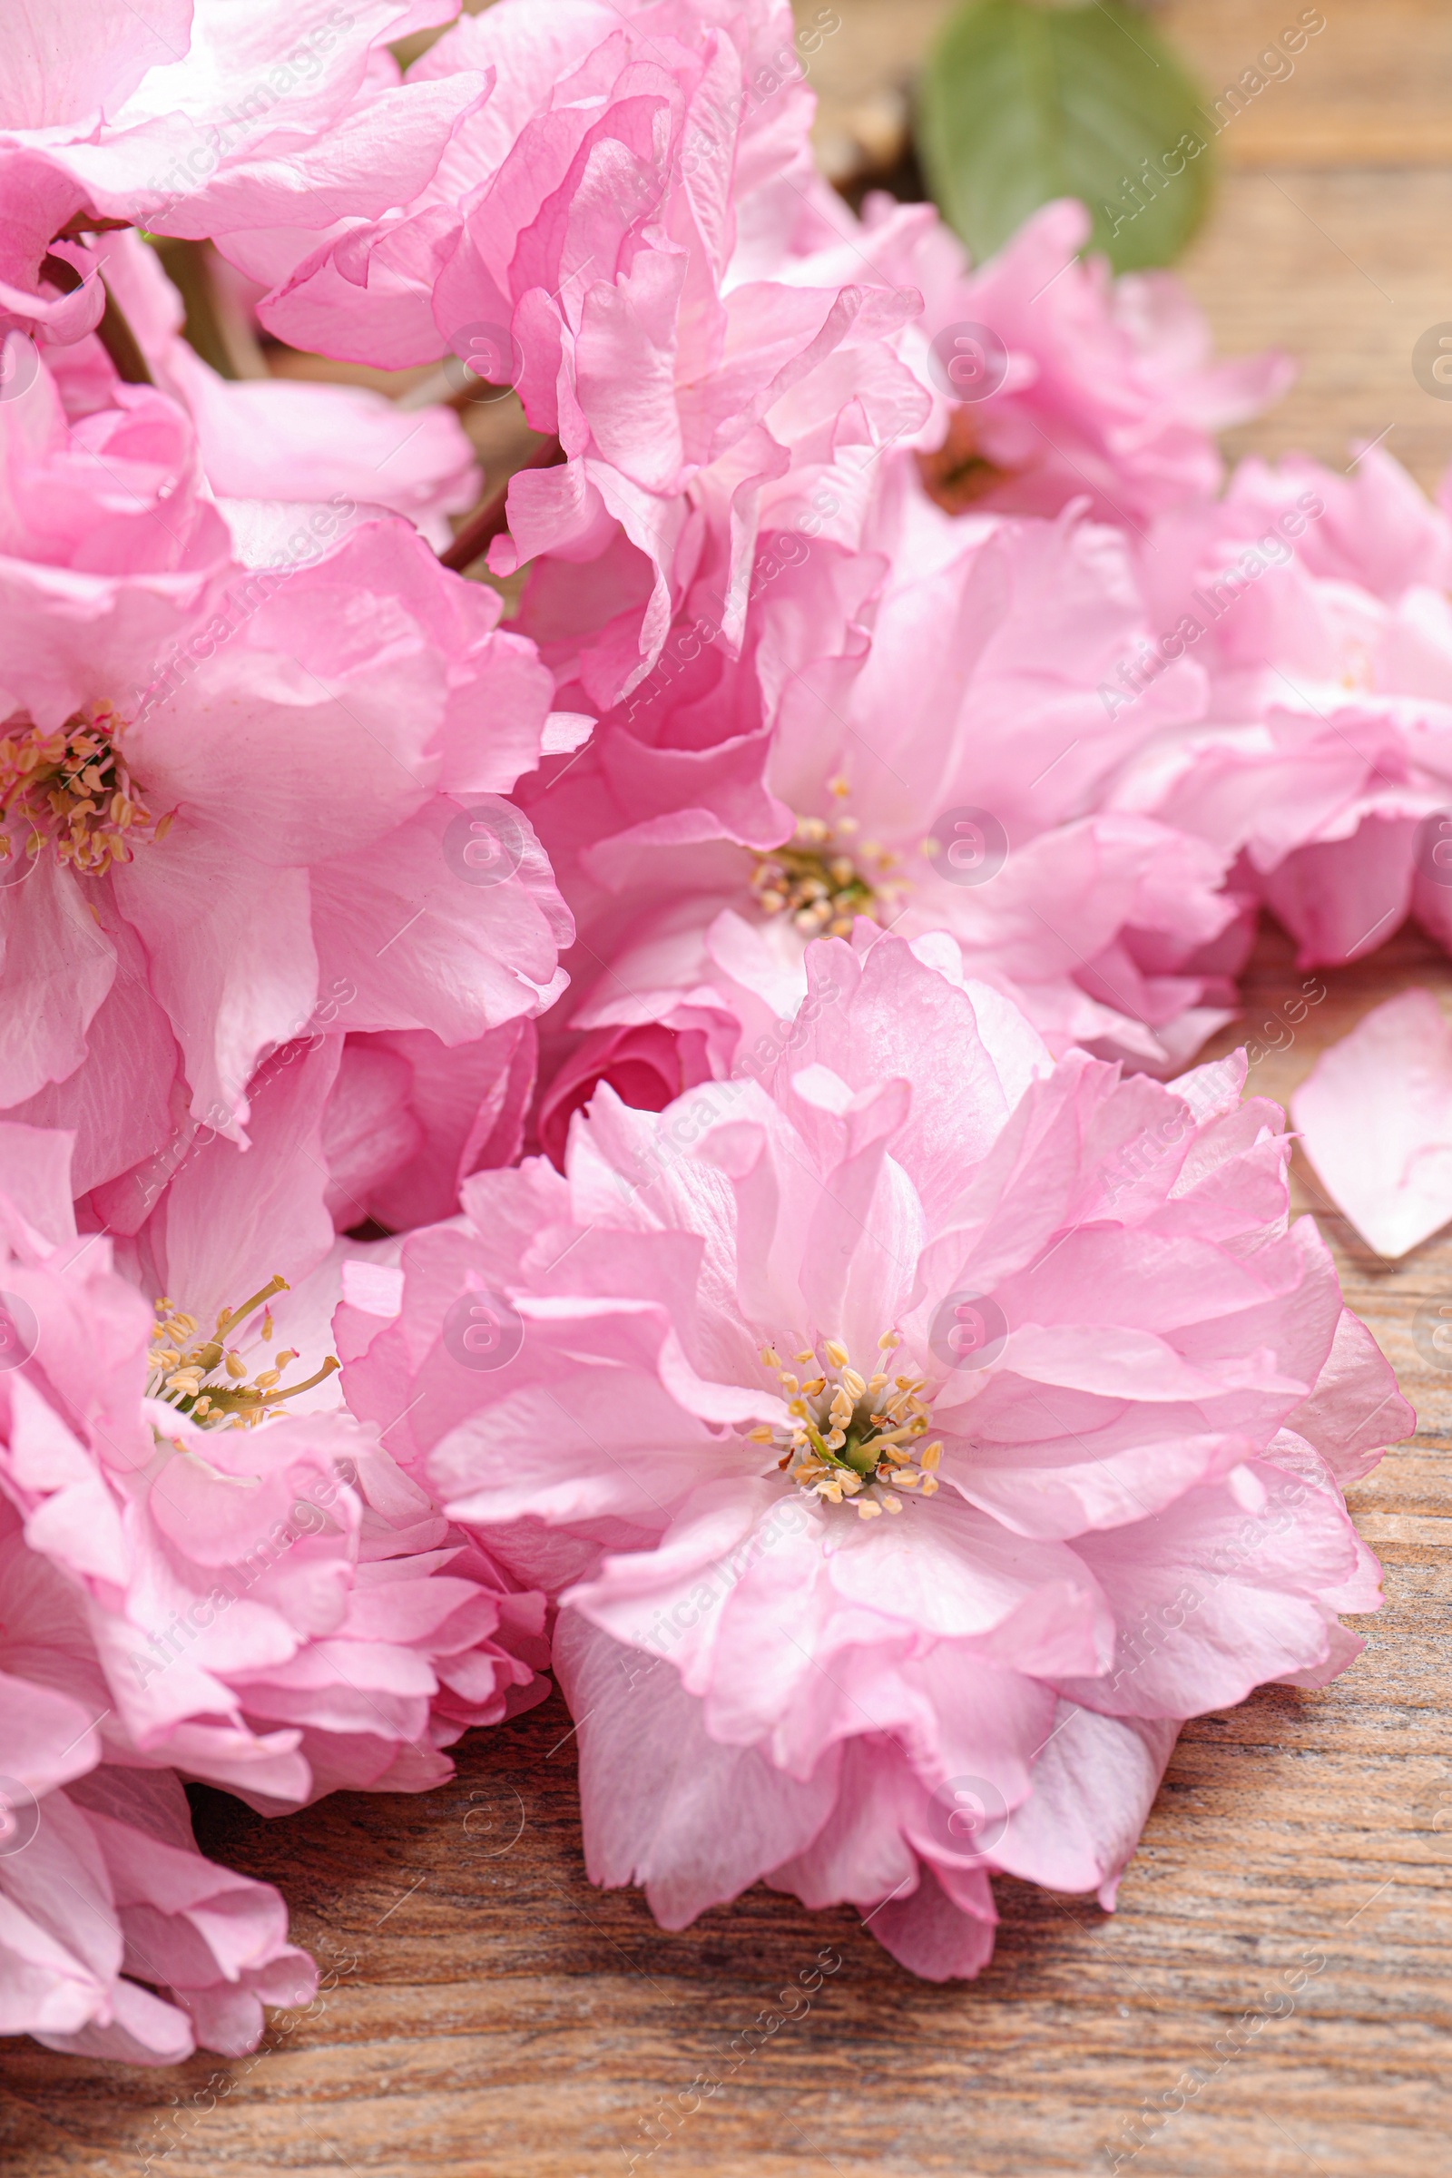
{"type": "MultiPolygon", "coordinates": [[[[875,1359],[886,1363],[899,1344],[899,1331],[884,1331],[875,1359]]],[[[801,1381],[775,1346],[762,1346],[762,1366],[775,1370],[792,1420],[786,1429],[764,1422],[747,1433],[749,1440],[779,1451],[777,1466],[799,1490],[827,1505],[849,1498],[862,1520],[901,1512],[899,1490],[932,1496],[943,1444],[919,1442],[932,1414],[921,1396],[923,1379],[893,1376],[888,1368],[864,1376],[838,1339],[819,1339],[819,1348],[792,1357],[799,1368],[810,1363],[814,1370],[801,1381]]]]}

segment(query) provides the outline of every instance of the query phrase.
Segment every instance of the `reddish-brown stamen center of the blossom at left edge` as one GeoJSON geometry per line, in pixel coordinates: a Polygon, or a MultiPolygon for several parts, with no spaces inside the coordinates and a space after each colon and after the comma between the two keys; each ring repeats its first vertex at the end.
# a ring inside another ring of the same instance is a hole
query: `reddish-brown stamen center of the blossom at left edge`
{"type": "MultiPolygon", "coordinates": [[[[28,825],[26,856],[50,841],[63,869],[102,878],[111,862],[131,860],[135,839],[165,839],[172,819],[152,817],[137,797],[120,738],[122,721],[109,703],[94,703],[54,734],[11,725],[0,736],[0,819],[28,825]]],[[[11,852],[11,834],[0,832],[0,862],[11,852]]]]}

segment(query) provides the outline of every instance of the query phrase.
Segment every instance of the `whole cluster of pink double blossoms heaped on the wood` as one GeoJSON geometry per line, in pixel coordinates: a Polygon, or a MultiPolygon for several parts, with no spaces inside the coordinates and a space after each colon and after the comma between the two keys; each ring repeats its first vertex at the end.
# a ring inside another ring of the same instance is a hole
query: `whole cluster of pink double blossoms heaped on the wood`
{"type": "Polygon", "coordinates": [[[0,33],[0,2032],[57,2049],[311,1993],[185,1784],[427,1790],[546,1673],[594,1880],[971,1975],[993,1873],[1110,1906],[1180,1723],[1378,1603],[1408,1409],[1191,1063],[1263,908],[1452,939],[1448,516],[1226,484],[1284,364],[1080,205],[977,268],[851,211],[786,0],[455,15],[0,33]],[[218,377],[168,246],[444,399],[218,377]]]}

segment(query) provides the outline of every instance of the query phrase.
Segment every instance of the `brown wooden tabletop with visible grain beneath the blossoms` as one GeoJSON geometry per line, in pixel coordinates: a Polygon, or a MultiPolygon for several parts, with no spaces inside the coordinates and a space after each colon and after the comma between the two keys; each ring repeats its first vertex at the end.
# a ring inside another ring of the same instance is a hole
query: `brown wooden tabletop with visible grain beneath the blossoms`
{"type": "MultiPolygon", "coordinates": [[[[851,68],[869,89],[906,72],[940,9],[838,7],[819,81],[849,109],[851,68]]],[[[1213,83],[1295,13],[1291,0],[1169,11],[1213,83]]],[[[1278,105],[1226,133],[1223,198],[1189,277],[1226,348],[1280,340],[1306,357],[1300,388],[1236,451],[1300,442],[1345,462],[1350,433],[1393,423],[1393,449],[1432,481],[1452,455],[1452,405],[1417,390],[1408,348],[1452,318],[1452,13],[1328,0],[1328,15],[1278,105]]],[[[1269,932],[1245,1032],[1297,982],[1269,932]]],[[[1289,1096],[1324,1043],[1408,982],[1452,1002],[1452,967],[1415,934],[1326,976],[1326,1002],[1252,1085],[1289,1096]]],[[[1295,1187],[1302,1209],[1321,1209],[1300,1159],[1295,1187]]],[[[202,1795],[202,1847],[285,1891],[335,1984],[313,2019],[279,2017],[239,2063],[141,2073],[2,2045],[0,2169],[131,2178],[150,2154],[168,2178],[620,2178],[636,2152],[651,2178],[1108,2171],[1104,2143],[1147,2100],[1173,2104],[1180,2073],[1210,2069],[1215,2041],[1311,1951],[1326,1967],[1295,2010],[1123,2167],[1445,2178],[1452,1374],[1411,1326],[1452,1285],[1452,1239],[1385,1265],[1341,1218],[1324,1228],[1422,1411],[1417,1437],[1352,1496],[1387,1566],[1387,1610],[1326,1692],[1271,1690],[1186,1727],[1115,1917],[999,1882],[993,1967],[947,1989],[901,1973],[851,1910],[808,1914],[764,1891],[664,1934],[636,1893],[583,1877],[553,1699],[468,1740],[457,1779],[424,1799],[340,1795],[263,1823],[202,1795]],[[647,2158],[657,2108],[721,2071],[823,1945],[842,1965],[812,2010],[647,2158]]]]}

